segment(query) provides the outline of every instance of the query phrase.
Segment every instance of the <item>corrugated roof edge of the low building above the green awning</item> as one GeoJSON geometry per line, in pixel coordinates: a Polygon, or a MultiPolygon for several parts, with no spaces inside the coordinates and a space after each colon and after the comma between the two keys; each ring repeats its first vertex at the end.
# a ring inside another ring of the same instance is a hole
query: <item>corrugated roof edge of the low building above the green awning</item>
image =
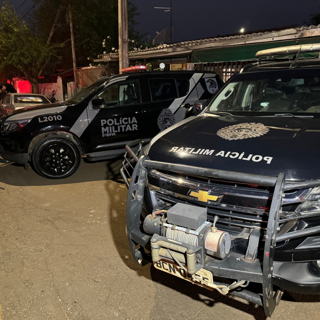
{"type": "MultiPolygon", "coordinates": [[[[286,39],[299,39],[310,36],[320,36],[320,24],[318,26],[302,26],[300,28],[286,28],[275,31],[257,32],[251,34],[223,36],[208,39],[179,42],[175,44],[161,44],[154,48],[137,49],[129,52],[129,59],[143,59],[161,56],[190,54],[192,50],[212,48],[217,46],[251,44],[266,41],[279,41],[286,39]]],[[[101,59],[94,62],[119,60],[119,53],[102,55],[101,59]]]]}

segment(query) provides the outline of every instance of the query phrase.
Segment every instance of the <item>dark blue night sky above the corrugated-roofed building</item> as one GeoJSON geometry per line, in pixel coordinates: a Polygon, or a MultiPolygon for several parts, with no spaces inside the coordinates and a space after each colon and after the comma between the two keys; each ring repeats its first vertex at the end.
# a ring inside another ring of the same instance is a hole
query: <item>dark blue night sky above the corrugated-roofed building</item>
{"type": "MultiPolygon", "coordinates": [[[[130,0],[140,15],[135,29],[151,38],[170,26],[170,0],[130,0]]],[[[175,30],[172,42],[188,41],[249,30],[269,29],[294,24],[303,25],[311,13],[320,12],[317,0],[172,0],[175,30]]]]}

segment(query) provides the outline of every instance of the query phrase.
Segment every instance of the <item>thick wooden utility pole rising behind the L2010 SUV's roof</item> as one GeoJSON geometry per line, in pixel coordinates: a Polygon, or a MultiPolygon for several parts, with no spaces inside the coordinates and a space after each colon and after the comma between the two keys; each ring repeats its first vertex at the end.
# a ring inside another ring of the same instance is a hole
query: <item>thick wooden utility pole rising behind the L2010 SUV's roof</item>
{"type": "Polygon", "coordinates": [[[119,73],[129,67],[128,0],[118,0],[119,16],[119,73]]]}

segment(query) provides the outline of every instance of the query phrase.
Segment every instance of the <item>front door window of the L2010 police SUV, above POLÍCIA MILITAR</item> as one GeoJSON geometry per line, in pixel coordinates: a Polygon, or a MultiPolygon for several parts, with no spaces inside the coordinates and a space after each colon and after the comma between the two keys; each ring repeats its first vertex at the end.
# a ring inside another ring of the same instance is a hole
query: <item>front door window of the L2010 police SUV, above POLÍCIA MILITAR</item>
{"type": "Polygon", "coordinates": [[[140,103],[140,89],[138,81],[117,83],[98,94],[103,98],[107,107],[140,103]]]}

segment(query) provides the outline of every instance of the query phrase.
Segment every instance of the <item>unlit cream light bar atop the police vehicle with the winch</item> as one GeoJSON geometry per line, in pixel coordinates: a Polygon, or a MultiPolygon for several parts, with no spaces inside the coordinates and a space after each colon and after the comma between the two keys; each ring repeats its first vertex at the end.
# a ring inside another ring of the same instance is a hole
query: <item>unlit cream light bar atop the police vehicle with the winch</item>
{"type": "Polygon", "coordinates": [[[273,48],[267,50],[260,50],[256,53],[257,58],[270,57],[270,56],[282,56],[288,54],[297,54],[297,53],[311,53],[311,52],[320,52],[320,44],[299,44],[291,45],[288,47],[273,48]]]}

